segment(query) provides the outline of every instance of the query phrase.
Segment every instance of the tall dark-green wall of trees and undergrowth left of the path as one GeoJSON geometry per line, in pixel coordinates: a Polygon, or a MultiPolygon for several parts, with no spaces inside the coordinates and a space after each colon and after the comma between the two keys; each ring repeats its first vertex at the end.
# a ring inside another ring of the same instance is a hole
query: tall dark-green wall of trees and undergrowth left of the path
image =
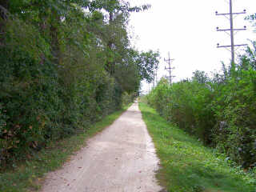
{"type": "Polygon", "coordinates": [[[158,53],[132,49],[127,33],[130,12],[148,8],[112,0],[0,1],[1,165],[133,100],[158,66],[158,53]]]}

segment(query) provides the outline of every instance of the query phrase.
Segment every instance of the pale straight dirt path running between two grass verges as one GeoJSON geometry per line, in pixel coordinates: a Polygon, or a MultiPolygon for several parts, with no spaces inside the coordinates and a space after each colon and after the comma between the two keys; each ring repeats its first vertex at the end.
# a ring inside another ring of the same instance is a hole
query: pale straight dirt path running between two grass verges
{"type": "Polygon", "coordinates": [[[91,138],[42,192],[158,192],[154,144],[134,103],[112,126],[91,138]]]}

